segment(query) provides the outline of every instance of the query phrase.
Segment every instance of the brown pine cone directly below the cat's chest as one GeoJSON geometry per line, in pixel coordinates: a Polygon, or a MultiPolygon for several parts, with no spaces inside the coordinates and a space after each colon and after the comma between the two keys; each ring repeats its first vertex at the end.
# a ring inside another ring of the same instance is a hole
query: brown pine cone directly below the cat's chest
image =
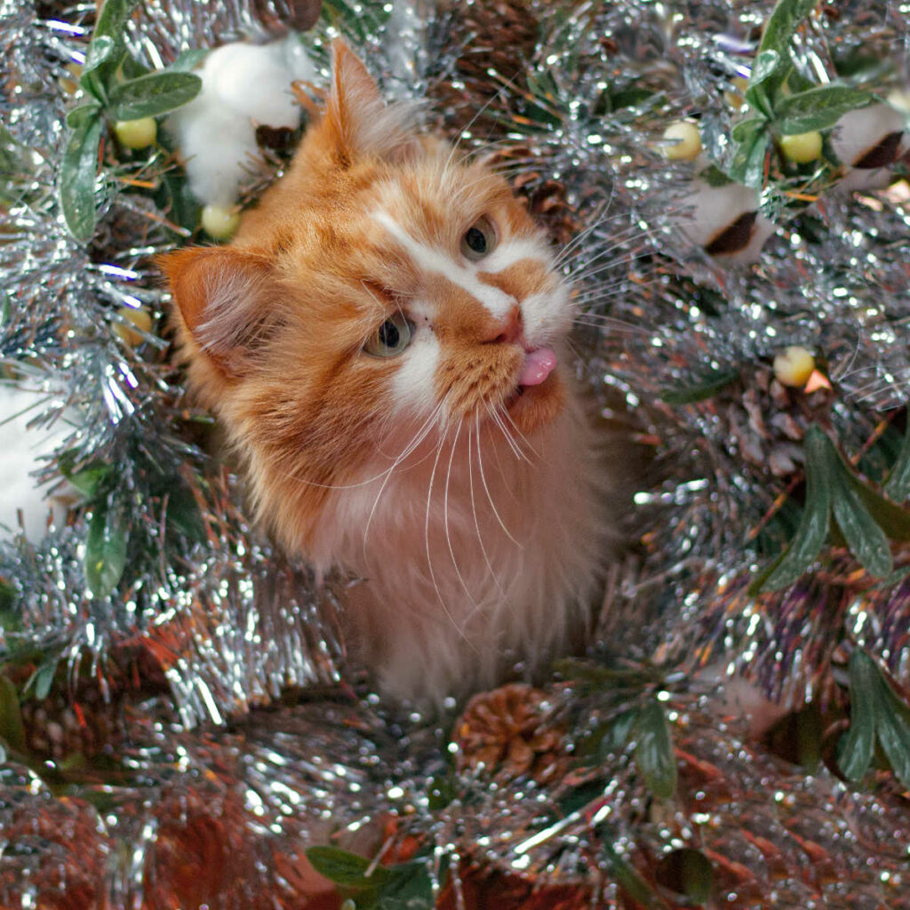
{"type": "Polygon", "coordinates": [[[505,777],[558,780],[568,770],[565,729],[553,723],[546,693],[511,683],[475,695],[455,725],[459,771],[482,768],[505,777]]]}

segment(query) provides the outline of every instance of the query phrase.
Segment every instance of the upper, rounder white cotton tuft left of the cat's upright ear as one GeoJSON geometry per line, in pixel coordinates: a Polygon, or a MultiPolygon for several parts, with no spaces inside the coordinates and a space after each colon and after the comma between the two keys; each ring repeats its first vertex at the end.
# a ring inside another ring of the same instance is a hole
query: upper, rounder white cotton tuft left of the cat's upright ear
{"type": "Polygon", "coordinates": [[[211,86],[223,105],[265,126],[299,125],[292,81],[281,44],[225,45],[208,56],[203,68],[206,88],[211,86]]]}

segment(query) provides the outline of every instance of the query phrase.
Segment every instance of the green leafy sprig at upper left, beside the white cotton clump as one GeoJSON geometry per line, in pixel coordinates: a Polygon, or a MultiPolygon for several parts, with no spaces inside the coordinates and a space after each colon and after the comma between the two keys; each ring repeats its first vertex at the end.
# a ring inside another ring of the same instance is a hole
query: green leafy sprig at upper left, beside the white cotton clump
{"type": "Polygon", "coordinates": [[[192,101],[202,87],[198,76],[181,71],[182,62],[149,73],[129,56],[124,31],[135,5],[136,0],[106,0],[102,6],[79,77],[86,100],[66,116],[70,136],[60,168],[60,204],[66,227],[84,243],[95,233],[106,123],[167,114],[192,101]]]}

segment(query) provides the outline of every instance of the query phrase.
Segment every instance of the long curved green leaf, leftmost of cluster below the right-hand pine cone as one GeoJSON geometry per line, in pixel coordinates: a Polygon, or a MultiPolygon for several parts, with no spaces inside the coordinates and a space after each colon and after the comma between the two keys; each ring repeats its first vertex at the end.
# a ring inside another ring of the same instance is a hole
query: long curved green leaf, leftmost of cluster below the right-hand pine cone
{"type": "Polygon", "coordinates": [[[831,491],[834,485],[828,446],[831,442],[817,426],[805,434],[805,506],[790,546],[749,586],[752,594],[776,591],[792,584],[815,561],[828,536],[831,491]]]}

